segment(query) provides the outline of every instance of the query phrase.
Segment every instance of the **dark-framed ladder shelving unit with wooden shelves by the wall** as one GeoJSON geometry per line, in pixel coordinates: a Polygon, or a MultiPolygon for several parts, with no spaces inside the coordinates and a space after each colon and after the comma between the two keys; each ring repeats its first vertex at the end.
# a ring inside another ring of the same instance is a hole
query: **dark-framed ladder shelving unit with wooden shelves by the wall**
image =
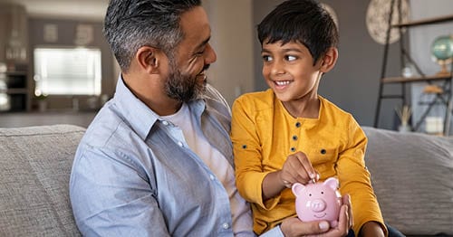
{"type": "MultiPolygon", "coordinates": [[[[444,116],[444,130],[443,134],[445,136],[448,136],[448,131],[449,131],[449,124],[450,124],[450,118],[451,118],[451,112],[452,112],[452,101],[451,101],[451,95],[452,95],[452,71],[453,71],[453,63],[451,64],[451,69],[448,74],[442,74],[442,75],[426,75],[419,69],[419,66],[416,62],[412,60],[410,57],[410,53],[407,52],[406,46],[403,43],[403,40],[400,39],[400,57],[401,57],[401,63],[403,62],[410,62],[412,65],[414,65],[415,70],[419,73],[419,76],[417,77],[387,77],[386,75],[386,69],[387,69],[387,58],[388,58],[388,52],[389,52],[389,42],[390,42],[390,30],[391,28],[398,27],[400,30],[400,35],[402,37],[402,29],[403,28],[410,28],[413,26],[420,26],[420,25],[427,25],[427,24],[440,24],[440,23],[445,23],[449,21],[453,21],[453,14],[451,15],[444,15],[444,16],[439,16],[439,17],[434,17],[434,18],[427,18],[427,19],[422,19],[422,20],[417,20],[417,21],[411,21],[407,23],[402,23],[401,19],[399,19],[399,24],[391,24],[391,19],[393,16],[393,5],[395,3],[398,4],[398,11],[401,13],[401,0],[391,0],[390,3],[390,17],[389,17],[389,28],[387,30],[387,35],[386,35],[386,43],[384,45],[384,56],[383,56],[383,62],[382,62],[382,68],[381,68],[381,80],[380,80],[380,86],[379,86],[379,96],[378,96],[378,103],[376,107],[376,113],[375,113],[375,118],[374,118],[374,127],[378,128],[379,126],[379,119],[380,119],[380,112],[381,112],[381,100],[385,99],[398,99],[401,100],[402,105],[408,105],[408,99],[406,98],[406,85],[408,83],[413,83],[413,82],[426,82],[427,84],[432,84],[434,81],[440,81],[442,82],[441,84],[441,93],[436,93],[435,96],[433,97],[432,100],[426,102],[428,106],[427,109],[423,111],[421,114],[421,117],[419,118],[418,121],[414,122],[414,125],[412,126],[412,129],[414,131],[418,131],[421,124],[423,123],[423,120],[426,119],[426,117],[429,115],[429,111],[432,109],[432,107],[436,104],[442,104],[446,108],[446,113],[444,116]],[[398,1],[398,2],[395,2],[398,1]],[[395,84],[398,83],[400,84],[400,93],[397,94],[384,94],[384,85],[386,84],[395,84]]],[[[403,67],[403,65],[401,65],[403,67]]]]}

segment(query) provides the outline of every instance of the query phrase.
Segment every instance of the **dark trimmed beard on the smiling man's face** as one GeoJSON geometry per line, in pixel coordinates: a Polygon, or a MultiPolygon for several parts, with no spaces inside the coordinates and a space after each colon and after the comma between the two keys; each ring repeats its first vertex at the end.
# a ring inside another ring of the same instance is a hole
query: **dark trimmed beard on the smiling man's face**
{"type": "MultiPolygon", "coordinates": [[[[208,65],[205,70],[207,68],[208,65]]],[[[197,76],[191,78],[190,75],[183,75],[178,67],[171,66],[169,80],[165,83],[165,90],[169,98],[178,101],[196,100],[205,91],[207,84],[206,80],[201,84],[197,81],[197,76]]]]}

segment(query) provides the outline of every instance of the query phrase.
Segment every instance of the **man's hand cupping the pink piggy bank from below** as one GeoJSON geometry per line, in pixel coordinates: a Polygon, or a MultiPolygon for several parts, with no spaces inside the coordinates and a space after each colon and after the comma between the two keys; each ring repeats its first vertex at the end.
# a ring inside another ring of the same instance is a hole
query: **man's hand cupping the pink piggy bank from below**
{"type": "Polygon", "coordinates": [[[285,237],[289,236],[318,236],[318,237],[339,237],[346,236],[352,228],[352,209],[348,194],[342,196],[342,208],[337,227],[330,228],[328,222],[304,223],[297,217],[290,217],[280,225],[285,237]]]}

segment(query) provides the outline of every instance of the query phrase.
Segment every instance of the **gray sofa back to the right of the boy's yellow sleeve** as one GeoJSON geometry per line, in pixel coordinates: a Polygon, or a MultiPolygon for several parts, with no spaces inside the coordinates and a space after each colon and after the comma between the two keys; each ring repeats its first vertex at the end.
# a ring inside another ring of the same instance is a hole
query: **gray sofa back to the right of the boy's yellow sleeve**
{"type": "Polygon", "coordinates": [[[408,235],[453,235],[453,138],[363,130],[385,221],[408,235]]]}

